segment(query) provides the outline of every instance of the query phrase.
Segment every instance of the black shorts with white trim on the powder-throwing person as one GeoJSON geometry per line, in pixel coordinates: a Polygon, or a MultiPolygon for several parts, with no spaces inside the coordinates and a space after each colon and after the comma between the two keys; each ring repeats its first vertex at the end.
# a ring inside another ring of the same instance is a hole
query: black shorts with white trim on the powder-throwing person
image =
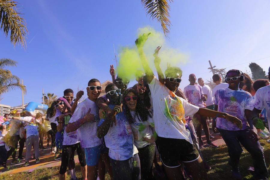
{"type": "Polygon", "coordinates": [[[178,167],[199,158],[199,152],[187,140],[158,137],[156,143],[162,163],[167,167],[178,167]]]}

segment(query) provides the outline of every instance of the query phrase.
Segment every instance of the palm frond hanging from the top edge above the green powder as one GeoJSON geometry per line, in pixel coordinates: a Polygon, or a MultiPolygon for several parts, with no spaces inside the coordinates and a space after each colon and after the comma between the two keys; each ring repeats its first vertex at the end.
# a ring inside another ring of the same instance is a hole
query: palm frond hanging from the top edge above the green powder
{"type": "MultiPolygon", "coordinates": [[[[173,2],[173,0],[169,0],[173,2]]],[[[141,0],[144,8],[146,8],[147,14],[152,17],[152,19],[156,19],[161,23],[161,28],[164,32],[165,37],[168,38],[168,34],[170,33],[170,5],[166,0],[141,0]]]]}

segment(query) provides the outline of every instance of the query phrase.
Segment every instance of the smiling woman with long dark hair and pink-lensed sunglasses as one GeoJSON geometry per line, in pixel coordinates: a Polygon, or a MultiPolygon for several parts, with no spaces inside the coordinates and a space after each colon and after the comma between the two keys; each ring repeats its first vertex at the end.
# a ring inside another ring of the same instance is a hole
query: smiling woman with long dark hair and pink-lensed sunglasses
{"type": "Polygon", "coordinates": [[[150,128],[154,127],[152,114],[138,98],[134,89],[127,89],[123,93],[123,107],[134,134],[134,144],[139,151],[142,179],[154,179],[152,167],[155,145],[153,143],[157,134],[150,128]]]}

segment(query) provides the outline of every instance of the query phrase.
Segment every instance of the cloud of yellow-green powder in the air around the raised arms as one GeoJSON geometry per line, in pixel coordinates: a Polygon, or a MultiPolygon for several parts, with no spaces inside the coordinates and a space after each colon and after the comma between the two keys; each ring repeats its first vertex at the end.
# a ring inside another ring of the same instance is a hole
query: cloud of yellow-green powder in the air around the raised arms
{"type": "MultiPolygon", "coordinates": [[[[168,46],[162,32],[157,32],[155,31],[155,29],[151,27],[140,28],[137,30],[137,32],[138,32],[137,38],[139,37],[139,35],[143,35],[144,33],[148,34],[149,32],[151,32],[151,34],[148,37],[148,40],[143,46],[143,51],[146,55],[146,59],[149,63],[149,66],[154,73],[156,69],[154,65],[153,54],[158,46],[162,46],[159,52],[159,57],[161,58],[160,66],[163,72],[164,70],[167,69],[167,64],[170,64],[170,66],[181,67],[182,64],[186,63],[187,55],[180,52],[180,50],[177,48],[168,46]]],[[[120,50],[119,65],[116,68],[118,76],[127,77],[131,80],[135,79],[134,74],[136,73],[137,70],[143,70],[139,53],[135,45],[135,40],[136,38],[134,38],[133,40],[134,46],[123,47],[120,50]]],[[[157,74],[155,73],[155,75],[157,74]]]]}

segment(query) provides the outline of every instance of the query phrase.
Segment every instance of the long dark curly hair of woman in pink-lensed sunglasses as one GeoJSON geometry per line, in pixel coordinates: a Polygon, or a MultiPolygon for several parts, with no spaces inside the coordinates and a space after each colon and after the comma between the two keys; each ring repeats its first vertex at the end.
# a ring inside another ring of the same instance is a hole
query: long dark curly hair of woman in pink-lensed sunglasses
{"type": "MultiPolygon", "coordinates": [[[[127,102],[125,98],[128,96],[129,93],[134,93],[134,95],[138,96],[137,92],[134,89],[127,89],[123,93],[123,111],[130,123],[134,123],[135,119],[131,116],[130,110],[128,109],[127,102]]],[[[135,109],[135,116],[138,117],[140,121],[147,121],[148,116],[152,117],[149,110],[143,105],[140,98],[137,99],[137,105],[135,109]]]]}

